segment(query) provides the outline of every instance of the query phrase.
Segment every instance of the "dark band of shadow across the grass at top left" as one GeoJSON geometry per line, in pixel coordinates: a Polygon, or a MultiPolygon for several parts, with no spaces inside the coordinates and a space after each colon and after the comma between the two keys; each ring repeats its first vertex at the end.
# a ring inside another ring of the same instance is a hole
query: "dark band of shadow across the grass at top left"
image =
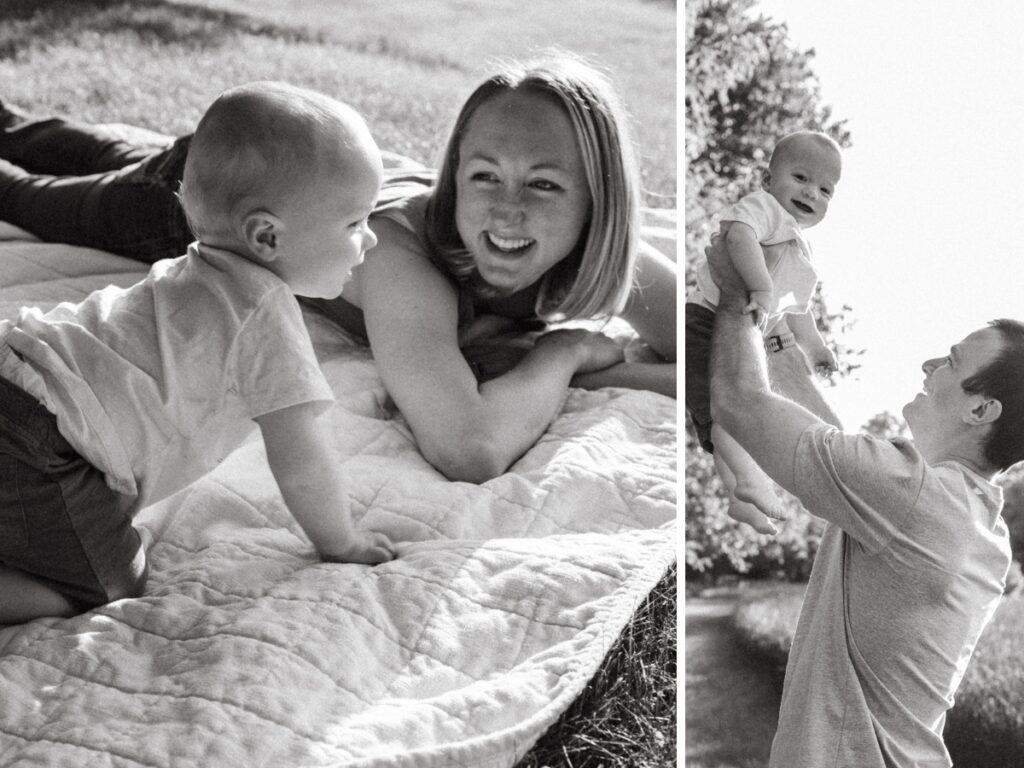
{"type": "Polygon", "coordinates": [[[464,69],[443,54],[416,49],[386,35],[341,40],[328,29],[283,25],[258,15],[166,0],[4,0],[0,27],[0,59],[69,34],[130,32],[146,43],[196,49],[216,48],[243,34],[288,43],[334,44],[428,69],[464,69]]]}

